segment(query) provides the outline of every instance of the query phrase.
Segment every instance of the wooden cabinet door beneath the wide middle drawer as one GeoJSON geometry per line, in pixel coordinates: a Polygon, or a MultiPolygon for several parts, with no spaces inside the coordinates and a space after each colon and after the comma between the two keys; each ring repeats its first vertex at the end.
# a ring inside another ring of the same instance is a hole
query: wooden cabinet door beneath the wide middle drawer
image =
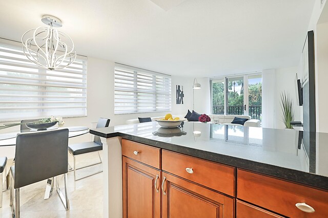
{"type": "Polygon", "coordinates": [[[234,199],[162,172],[162,217],[234,216],[234,199]]]}

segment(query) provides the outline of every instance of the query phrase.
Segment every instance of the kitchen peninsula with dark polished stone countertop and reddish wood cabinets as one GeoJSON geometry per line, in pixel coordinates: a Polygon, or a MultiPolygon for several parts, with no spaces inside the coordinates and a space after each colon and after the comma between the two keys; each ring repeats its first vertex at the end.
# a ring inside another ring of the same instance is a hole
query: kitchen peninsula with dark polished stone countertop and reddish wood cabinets
{"type": "MultiPolygon", "coordinates": [[[[175,128],[137,123],[90,133],[104,146],[104,217],[143,214],[142,207],[127,208],[142,206],[127,203],[138,196],[127,180],[135,172],[152,182],[152,202],[159,204],[150,207],[154,217],[174,215],[180,202],[174,198],[193,204],[188,199],[193,194],[198,211],[208,217],[242,217],[250,211],[272,217],[328,215],[328,134],[314,133],[316,140],[308,143],[302,139],[307,133],[294,129],[197,122],[175,128]]],[[[145,184],[138,188],[147,193],[145,184]]],[[[189,211],[180,207],[179,212],[189,211]]]]}

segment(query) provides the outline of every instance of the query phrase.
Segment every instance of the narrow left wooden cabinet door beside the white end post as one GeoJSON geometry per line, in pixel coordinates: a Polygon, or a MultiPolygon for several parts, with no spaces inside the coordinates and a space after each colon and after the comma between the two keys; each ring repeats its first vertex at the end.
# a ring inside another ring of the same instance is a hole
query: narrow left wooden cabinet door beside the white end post
{"type": "Polygon", "coordinates": [[[161,172],[126,157],[122,162],[123,217],[160,218],[161,172]]]}

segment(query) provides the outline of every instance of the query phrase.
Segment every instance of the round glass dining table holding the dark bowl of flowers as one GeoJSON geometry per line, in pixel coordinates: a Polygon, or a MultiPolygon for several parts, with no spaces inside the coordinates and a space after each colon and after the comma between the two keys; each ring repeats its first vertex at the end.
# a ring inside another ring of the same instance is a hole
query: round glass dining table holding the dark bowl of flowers
{"type": "MultiPolygon", "coordinates": [[[[86,126],[68,126],[68,127],[59,127],[59,128],[68,128],[68,138],[73,138],[89,133],[89,128],[86,126]]],[[[59,129],[58,127],[51,127],[47,130],[59,129]]],[[[14,146],[16,145],[16,136],[18,133],[28,133],[36,132],[36,130],[25,129],[16,132],[0,133],[0,154],[1,156],[7,156],[9,159],[14,158],[14,146]],[[7,155],[7,154],[8,155],[7,155]]],[[[68,151],[67,151],[68,152],[68,151]]],[[[9,171],[9,170],[8,170],[9,171]]],[[[8,178],[8,177],[7,177],[8,178]]],[[[53,190],[53,178],[48,179],[45,199],[49,199],[53,190]]]]}

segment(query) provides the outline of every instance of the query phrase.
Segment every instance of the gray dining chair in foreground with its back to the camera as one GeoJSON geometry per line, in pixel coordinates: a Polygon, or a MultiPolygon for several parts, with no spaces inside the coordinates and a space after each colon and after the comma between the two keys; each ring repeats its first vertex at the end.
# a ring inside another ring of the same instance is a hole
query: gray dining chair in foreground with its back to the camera
{"type": "Polygon", "coordinates": [[[20,188],[59,175],[64,175],[65,197],[59,188],[59,181],[56,182],[56,189],[64,207],[69,210],[66,187],[67,149],[67,128],[17,134],[15,165],[10,167],[10,208],[13,217],[20,216],[20,188]],[[13,199],[15,199],[15,206],[13,206],[13,199]]]}

